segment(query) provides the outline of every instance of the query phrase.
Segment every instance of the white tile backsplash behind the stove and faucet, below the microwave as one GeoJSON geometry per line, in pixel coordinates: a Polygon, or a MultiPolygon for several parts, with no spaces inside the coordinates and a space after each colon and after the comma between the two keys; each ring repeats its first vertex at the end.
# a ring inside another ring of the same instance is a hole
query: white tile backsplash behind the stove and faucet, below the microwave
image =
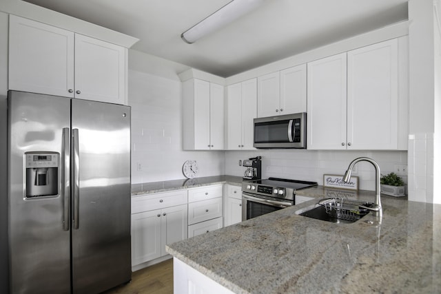
{"type": "MultiPolygon", "coordinates": [[[[243,176],[244,167],[238,160],[262,156],[263,178],[312,180],[323,184],[323,174],[343,175],[351,160],[367,156],[380,165],[381,174],[394,171],[397,164],[407,163],[407,151],[314,151],[304,149],[260,149],[256,151],[226,151],[225,174],[243,176]]],[[[359,162],[357,172],[360,189],[375,190],[375,169],[369,162],[359,162]]],[[[407,181],[407,176],[402,176],[407,181]]]]}

